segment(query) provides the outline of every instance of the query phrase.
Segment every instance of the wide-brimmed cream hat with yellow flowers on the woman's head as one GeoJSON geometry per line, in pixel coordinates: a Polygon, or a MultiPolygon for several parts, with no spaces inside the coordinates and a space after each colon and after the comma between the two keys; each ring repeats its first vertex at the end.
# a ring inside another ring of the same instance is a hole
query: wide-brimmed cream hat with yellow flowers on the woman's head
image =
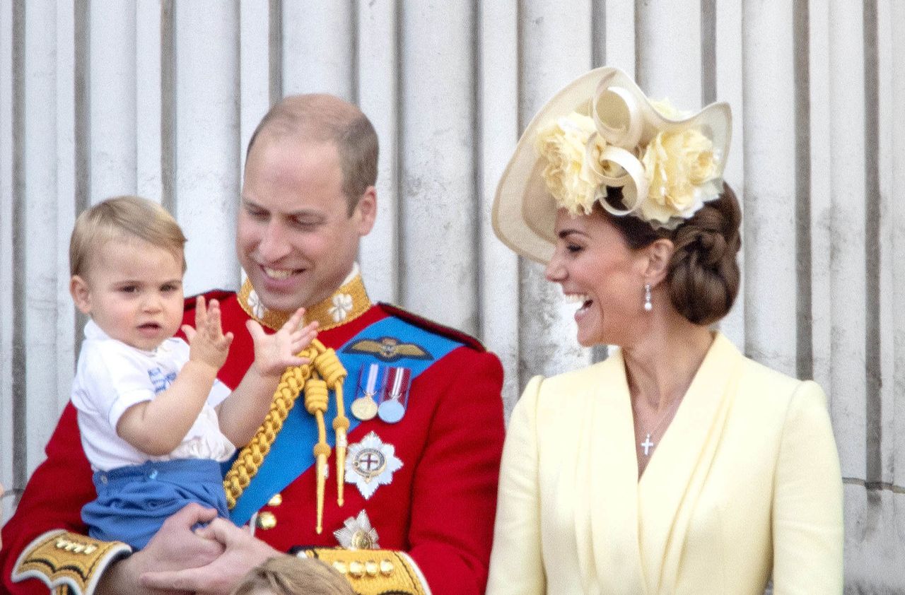
{"type": "Polygon", "coordinates": [[[558,208],[591,213],[597,202],[675,229],[722,192],[731,122],[726,103],[682,113],[647,99],[623,71],[590,71],[557,92],[519,139],[497,186],[493,231],[546,263],[558,208]],[[607,186],[622,190],[624,208],[606,202],[607,186]]]}

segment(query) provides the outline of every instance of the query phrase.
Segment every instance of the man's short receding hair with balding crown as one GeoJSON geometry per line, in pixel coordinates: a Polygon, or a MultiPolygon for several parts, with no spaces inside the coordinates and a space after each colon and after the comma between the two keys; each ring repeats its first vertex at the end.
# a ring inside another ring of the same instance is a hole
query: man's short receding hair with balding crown
{"type": "Polygon", "coordinates": [[[349,213],[367,187],[376,184],[377,134],[367,116],[348,101],[326,94],[283,98],[255,128],[246,158],[262,137],[278,141],[285,137],[305,144],[333,143],[339,155],[349,213]]]}

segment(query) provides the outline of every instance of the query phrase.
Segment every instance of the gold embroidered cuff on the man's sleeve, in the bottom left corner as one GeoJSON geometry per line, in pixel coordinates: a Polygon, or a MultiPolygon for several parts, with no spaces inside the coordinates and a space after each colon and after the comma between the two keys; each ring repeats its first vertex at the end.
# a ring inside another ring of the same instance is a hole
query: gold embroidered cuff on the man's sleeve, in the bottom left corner
{"type": "Polygon", "coordinates": [[[122,542],[101,542],[54,529],[25,547],[12,578],[15,582],[38,579],[54,593],[91,595],[110,563],[131,552],[122,542]]]}

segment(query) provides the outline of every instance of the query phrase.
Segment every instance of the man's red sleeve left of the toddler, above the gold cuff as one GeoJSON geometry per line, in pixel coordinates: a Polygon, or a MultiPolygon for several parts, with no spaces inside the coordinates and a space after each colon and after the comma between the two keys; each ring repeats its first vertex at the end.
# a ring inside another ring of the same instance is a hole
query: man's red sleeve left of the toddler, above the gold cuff
{"type": "Polygon", "coordinates": [[[10,580],[16,559],[35,537],[51,529],[78,534],[88,531],[81,522],[81,507],[93,500],[96,492],[71,403],[62,411],[45,451],[47,459],[34,470],[15,514],[3,528],[3,550],[0,550],[3,589],[0,591],[4,593],[46,595],[47,586],[41,581],[10,580]]]}

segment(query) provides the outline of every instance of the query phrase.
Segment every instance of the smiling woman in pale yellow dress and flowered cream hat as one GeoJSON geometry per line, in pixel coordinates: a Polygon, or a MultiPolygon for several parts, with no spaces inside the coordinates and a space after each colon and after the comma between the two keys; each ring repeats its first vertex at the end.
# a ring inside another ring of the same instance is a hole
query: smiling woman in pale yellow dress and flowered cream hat
{"type": "Polygon", "coordinates": [[[510,420],[488,593],[827,595],[842,480],[825,396],[710,329],[738,293],[725,104],[687,114],[602,68],[540,110],[493,206],[604,362],[535,377],[510,420]]]}

